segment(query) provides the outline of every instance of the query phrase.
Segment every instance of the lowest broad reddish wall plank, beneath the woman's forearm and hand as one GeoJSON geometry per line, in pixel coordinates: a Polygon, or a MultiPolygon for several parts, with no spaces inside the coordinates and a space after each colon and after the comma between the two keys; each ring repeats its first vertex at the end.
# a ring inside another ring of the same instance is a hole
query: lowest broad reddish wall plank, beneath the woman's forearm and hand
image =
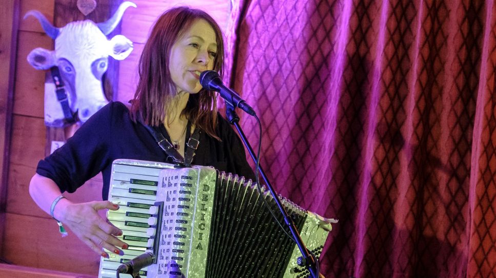
{"type": "Polygon", "coordinates": [[[96,276],[100,256],[73,233],[61,238],[52,219],[6,213],[3,258],[16,265],[96,276]]]}

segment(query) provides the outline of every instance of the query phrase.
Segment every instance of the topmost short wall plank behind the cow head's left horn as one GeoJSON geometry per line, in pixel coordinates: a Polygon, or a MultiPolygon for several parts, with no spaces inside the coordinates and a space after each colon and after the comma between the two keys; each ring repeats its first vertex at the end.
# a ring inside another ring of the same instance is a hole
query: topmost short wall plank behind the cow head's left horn
{"type": "Polygon", "coordinates": [[[21,12],[19,13],[19,30],[45,33],[38,19],[30,16],[24,19],[24,16],[29,10],[37,10],[53,23],[54,0],[21,0],[21,12]]]}

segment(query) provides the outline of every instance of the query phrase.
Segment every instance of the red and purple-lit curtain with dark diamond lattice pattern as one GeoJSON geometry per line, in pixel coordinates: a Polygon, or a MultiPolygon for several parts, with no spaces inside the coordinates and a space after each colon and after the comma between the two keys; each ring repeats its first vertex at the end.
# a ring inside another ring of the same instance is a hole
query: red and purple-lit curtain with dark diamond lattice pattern
{"type": "Polygon", "coordinates": [[[340,220],[327,277],[496,275],[495,6],[234,3],[226,81],[276,190],[340,220]]]}

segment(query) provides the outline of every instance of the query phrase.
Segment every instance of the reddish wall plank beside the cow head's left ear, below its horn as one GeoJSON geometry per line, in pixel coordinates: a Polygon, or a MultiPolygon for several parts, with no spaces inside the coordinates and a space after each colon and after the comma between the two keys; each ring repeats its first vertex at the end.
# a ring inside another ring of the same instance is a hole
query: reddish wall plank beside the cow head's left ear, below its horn
{"type": "Polygon", "coordinates": [[[18,41],[13,111],[18,115],[43,118],[45,71],[31,67],[26,58],[38,47],[53,50],[53,40],[45,33],[20,31],[18,41]]]}

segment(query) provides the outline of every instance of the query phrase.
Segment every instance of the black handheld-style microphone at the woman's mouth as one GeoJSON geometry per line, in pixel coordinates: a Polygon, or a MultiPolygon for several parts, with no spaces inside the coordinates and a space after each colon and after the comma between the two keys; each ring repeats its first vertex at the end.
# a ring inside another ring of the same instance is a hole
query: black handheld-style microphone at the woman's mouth
{"type": "Polygon", "coordinates": [[[207,90],[219,92],[221,97],[225,99],[233,107],[239,107],[241,110],[255,116],[255,111],[248,105],[236,92],[229,89],[222,83],[219,73],[216,71],[204,71],[200,74],[200,84],[207,90]]]}

